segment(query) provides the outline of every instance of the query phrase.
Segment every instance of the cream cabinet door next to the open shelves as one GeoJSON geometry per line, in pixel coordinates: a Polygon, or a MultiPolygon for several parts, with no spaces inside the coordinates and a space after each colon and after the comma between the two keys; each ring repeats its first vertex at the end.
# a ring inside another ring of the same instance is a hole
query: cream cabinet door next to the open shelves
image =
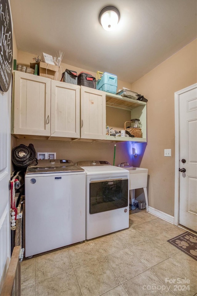
{"type": "Polygon", "coordinates": [[[105,92],[81,86],[81,138],[106,138],[105,92]]]}

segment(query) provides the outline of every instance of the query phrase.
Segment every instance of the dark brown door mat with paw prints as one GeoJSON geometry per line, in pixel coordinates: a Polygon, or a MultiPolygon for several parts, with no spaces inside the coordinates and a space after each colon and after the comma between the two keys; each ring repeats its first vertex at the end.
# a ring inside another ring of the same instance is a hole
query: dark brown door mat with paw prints
{"type": "Polygon", "coordinates": [[[170,240],[168,240],[168,242],[197,261],[196,235],[187,231],[171,238],[170,240]]]}

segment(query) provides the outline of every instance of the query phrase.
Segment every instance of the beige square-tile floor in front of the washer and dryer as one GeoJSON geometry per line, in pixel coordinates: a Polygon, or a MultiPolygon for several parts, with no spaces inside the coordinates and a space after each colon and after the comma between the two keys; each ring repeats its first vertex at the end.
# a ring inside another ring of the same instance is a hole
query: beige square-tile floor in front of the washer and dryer
{"type": "Polygon", "coordinates": [[[146,210],[130,211],[129,221],[128,229],[23,260],[21,295],[195,295],[197,261],[167,242],[185,231],[146,210]]]}

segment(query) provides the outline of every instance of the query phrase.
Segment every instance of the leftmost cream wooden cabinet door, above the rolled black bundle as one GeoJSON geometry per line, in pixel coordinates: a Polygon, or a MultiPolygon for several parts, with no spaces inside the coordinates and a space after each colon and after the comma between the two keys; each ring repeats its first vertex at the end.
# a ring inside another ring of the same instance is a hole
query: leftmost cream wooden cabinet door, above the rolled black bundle
{"type": "Polygon", "coordinates": [[[50,79],[13,72],[13,134],[50,136],[50,79]]]}

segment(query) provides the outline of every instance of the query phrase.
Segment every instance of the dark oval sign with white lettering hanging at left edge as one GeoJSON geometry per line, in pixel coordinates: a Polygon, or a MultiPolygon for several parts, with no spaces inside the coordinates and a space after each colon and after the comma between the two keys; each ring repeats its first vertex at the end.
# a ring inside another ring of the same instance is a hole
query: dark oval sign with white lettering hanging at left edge
{"type": "Polygon", "coordinates": [[[0,89],[7,92],[12,79],[12,22],[8,0],[0,0],[0,89]]]}

